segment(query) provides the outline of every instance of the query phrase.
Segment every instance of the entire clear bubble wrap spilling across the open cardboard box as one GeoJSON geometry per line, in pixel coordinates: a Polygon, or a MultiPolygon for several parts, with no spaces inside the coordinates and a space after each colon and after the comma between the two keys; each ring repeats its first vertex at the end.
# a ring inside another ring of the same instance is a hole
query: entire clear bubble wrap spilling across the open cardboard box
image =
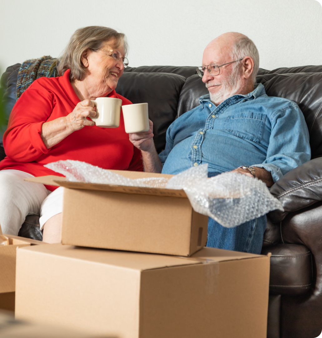
{"type": "Polygon", "coordinates": [[[130,187],[183,189],[193,209],[225,227],[234,227],[265,215],[283,211],[281,202],[259,179],[227,172],[208,178],[208,165],[202,164],[167,178],[130,179],[80,161],[58,161],[45,165],[66,176],[70,182],[87,182],[130,187]]]}

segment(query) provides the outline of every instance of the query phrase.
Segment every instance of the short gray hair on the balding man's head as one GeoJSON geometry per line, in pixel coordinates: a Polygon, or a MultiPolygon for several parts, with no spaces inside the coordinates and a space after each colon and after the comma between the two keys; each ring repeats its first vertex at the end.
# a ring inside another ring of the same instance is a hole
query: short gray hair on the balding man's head
{"type": "MultiPolygon", "coordinates": [[[[254,42],[246,37],[246,35],[240,33],[233,33],[236,36],[236,41],[233,45],[233,49],[231,51],[231,57],[233,60],[239,60],[244,58],[245,56],[250,56],[254,61],[254,69],[252,73],[252,80],[256,83],[256,75],[258,73],[259,68],[259,53],[254,42]]],[[[236,63],[234,65],[234,69],[239,68],[240,64],[236,63]]]]}

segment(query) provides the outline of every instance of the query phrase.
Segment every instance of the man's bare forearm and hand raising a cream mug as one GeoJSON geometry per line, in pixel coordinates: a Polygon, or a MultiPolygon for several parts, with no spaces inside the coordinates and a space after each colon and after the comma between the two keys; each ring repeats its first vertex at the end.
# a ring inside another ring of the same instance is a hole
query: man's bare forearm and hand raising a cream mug
{"type": "Polygon", "coordinates": [[[141,150],[145,172],[160,173],[162,163],[153,142],[153,123],[149,120],[150,130],[128,134],[130,141],[141,150]]]}

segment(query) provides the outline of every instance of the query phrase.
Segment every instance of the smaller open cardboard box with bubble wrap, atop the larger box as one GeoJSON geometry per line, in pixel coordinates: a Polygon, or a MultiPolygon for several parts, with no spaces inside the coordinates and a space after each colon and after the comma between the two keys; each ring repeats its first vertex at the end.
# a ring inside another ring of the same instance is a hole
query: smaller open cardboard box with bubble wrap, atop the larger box
{"type": "MultiPolygon", "coordinates": [[[[173,176],[112,171],[129,178],[173,176]]],[[[208,217],[192,209],[183,190],[66,182],[59,176],[27,180],[67,188],[63,244],[190,256],[207,242],[208,217]]]]}

